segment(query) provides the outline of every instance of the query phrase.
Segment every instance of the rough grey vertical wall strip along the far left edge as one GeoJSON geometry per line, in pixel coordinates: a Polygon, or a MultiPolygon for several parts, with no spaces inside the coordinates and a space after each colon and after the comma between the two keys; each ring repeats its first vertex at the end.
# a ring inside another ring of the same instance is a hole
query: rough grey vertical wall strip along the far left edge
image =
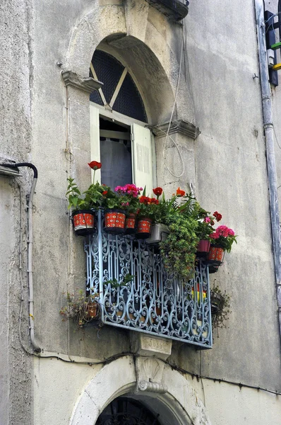
{"type": "MultiPolygon", "coordinates": [[[[16,162],[31,160],[30,154],[30,2],[2,1],[0,5],[0,159],[16,162]]],[[[25,196],[30,174],[23,177],[0,176],[1,231],[1,331],[0,331],[0,423],[32,423],[32,361],[20,346],[19,317],[22,297],[19,274],[20,225],[26,226],[25,196]],[[21,188],[19,188],[20,184],[21,188]],[[20,196],[23,194],[23,222],[20,222],[20,196]]],[[[26,237],[23,235],[22,333],[28,336],[26,237]]]]}

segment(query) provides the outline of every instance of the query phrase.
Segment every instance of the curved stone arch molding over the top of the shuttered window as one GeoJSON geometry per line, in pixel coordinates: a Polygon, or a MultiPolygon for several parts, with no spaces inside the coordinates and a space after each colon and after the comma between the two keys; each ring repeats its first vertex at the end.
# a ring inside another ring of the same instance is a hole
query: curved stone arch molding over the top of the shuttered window
{"type": "MultiPolygon", "coordinates": [[[[160,26],[164,28],[161,32],[153,19],[148,20],[149,13],[150,6],[145,0],[92,2],[92,9],[85,13],[73,30],[65,67],[88,77],[92,55],[106,40],[107,50],[112,54],[115,51],[117,57],[124,58],[140,83],[140,91],[148,96],[145,103],[150,123],[162,124],[169,120],[177,89],[181,28],[161,21],[160,26]],[[177,43],[171,42],[171,45],[177,45],[173,50],[167,40],[177,38],[177,43]]],[[[194,113],[190,93],[185,81],[179,90],[174,118],[192,123],[194,113]]]]}

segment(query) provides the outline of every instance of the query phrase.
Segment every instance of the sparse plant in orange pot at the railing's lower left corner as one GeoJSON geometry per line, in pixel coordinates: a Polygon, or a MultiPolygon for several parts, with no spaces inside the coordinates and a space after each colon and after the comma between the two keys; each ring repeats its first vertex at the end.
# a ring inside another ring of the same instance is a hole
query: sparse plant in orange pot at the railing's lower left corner
{"type": "Polygon", "coordinates": [[[83,290],[79,290],[77,294],[66,293],[66,305],[60,310],[63,321],[73,319],[78,328],[98,319],[99,312],[99,295],[85,295],[83,290]]]}

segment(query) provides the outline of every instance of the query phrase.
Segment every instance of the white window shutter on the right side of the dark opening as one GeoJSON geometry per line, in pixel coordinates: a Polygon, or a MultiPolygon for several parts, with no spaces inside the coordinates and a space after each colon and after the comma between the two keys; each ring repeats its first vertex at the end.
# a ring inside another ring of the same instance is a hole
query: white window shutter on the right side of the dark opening
{"type": "Polygon", "coordinates": [[[153,194],[153,144],[148,128],[132,125],[133,183],[153,194]]]}

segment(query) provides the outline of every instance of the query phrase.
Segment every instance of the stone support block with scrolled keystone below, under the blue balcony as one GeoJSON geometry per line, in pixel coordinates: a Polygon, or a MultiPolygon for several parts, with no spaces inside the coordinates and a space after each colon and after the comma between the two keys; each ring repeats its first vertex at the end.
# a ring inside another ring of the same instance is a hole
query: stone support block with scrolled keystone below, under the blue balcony
{"type": "Polygon", "coordinates": [[[131,336],[133,352],[136,356],[136,392],[165,393],[168,390],[165,382],[162,382],[165,363],[172,349],[172,341],[155,338],[143,334],[131,336]],[[157,357],[157,358],[156,358],[157,357]]]}

